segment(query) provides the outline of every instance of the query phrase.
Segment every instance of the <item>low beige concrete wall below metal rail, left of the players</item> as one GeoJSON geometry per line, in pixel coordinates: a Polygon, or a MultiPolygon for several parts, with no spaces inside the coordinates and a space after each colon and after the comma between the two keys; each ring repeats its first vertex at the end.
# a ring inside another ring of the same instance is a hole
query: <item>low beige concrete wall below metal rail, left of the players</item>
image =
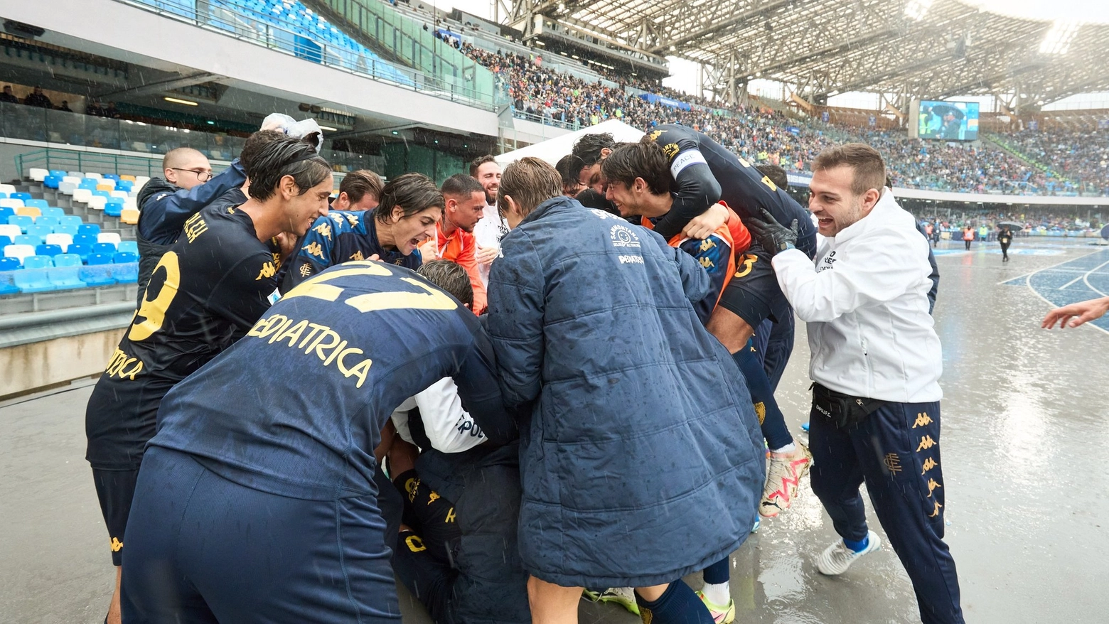
{"type": "Polygon", "coordinates": [[[99,375],[123,337],[123,328],[65,336],[0,349],[0,399],[99,375]]]}

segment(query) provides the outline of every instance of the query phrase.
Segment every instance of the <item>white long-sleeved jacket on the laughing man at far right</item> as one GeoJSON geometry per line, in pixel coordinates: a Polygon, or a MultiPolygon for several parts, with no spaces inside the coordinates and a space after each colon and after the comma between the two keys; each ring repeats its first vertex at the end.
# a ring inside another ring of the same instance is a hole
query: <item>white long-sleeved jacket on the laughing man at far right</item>
{"type": "Polygon", "coordinates": [[[815,266],[774,256],[777,283],[808,325],[808,376],[838,392],[895,402],[943,398],[939,337],[928,315],[928,242],[888,191],[865,217],[822,237],[815,266]]]}

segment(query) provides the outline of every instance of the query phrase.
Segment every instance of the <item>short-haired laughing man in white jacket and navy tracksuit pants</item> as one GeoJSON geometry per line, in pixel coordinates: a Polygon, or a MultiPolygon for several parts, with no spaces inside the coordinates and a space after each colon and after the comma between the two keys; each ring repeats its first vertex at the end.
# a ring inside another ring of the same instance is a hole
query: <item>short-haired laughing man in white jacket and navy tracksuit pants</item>
{"type": "Polygon", "coordinates": [[[842,574],[878,549],[858,488],[905,565],[926,624],[963,623],[955,561],[944,543],[939,459],[939,337],[928,315],[928,243],[885,186],[868,145],[825,150],[813,162],[808,209],[814,260],[773,219],[747,227],[774,249],[774,272],[808,324],[813,385],[813,492],[837,540],[817,560],[842,574]]]}

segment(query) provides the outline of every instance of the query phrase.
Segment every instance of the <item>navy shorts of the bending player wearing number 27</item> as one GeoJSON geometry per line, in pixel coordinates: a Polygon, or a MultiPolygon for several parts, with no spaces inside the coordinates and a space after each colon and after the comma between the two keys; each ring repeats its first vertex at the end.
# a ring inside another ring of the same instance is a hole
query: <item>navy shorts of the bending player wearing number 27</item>
{"type": "Polygon", "coordinates": [[[123,621],[400,621],[377,497],[302,500],[150,447],[128,523],[123,621]]]}

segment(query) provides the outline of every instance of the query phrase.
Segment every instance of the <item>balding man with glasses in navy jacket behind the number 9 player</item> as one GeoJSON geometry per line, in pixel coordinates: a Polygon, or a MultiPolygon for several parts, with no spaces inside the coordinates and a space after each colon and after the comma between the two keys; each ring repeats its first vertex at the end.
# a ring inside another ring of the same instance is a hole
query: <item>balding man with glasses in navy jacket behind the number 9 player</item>
{"type": "Polygon", "coordinates": [[[162,254],[176,242],[185,219],[246,182],[238,158],[212,175],[207,156],[192,147],[171,150],[162,158],[165,178],[152,177],[139,192],[139,306],[150,274],[162,254]]]}

